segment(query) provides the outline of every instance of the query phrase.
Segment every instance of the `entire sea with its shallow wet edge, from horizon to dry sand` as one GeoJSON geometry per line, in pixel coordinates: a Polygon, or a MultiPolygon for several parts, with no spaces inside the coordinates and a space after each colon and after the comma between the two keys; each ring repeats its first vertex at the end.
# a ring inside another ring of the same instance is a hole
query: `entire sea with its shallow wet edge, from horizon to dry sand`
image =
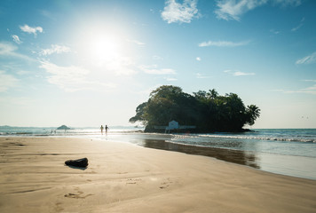
{"type": "Polygon", "coordinates": [[[141,133],[141,127],[56,130],[54,127],[0,126],[0,137],[75,137],[201,154],[276,174],[316,179],[316,129],[256,129],[242,133],[141,133]]]}

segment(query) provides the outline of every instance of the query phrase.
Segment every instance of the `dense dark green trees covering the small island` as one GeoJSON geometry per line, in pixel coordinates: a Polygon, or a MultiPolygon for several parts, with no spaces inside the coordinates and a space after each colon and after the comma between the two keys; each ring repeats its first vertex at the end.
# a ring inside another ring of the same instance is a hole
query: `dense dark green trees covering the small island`
{"type": "Polygon", "coordinates": [[[157,132],[155,126],[170,121],[194,125],[191,132],[243,131],[260,115],[255,105],[245,106],[237,94],[218,95],[217,91],[198,91],[193,95],[178,86],[164,85],[150,93],[149,99],[138,105],[130,122],[143,122],[146,132],[157,132]]]}

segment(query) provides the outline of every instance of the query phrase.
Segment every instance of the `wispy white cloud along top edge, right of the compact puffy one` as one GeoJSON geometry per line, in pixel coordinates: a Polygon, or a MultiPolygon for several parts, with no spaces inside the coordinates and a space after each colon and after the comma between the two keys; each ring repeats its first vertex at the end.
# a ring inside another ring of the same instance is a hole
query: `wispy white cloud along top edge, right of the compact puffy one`
{"type": "Polygon", "coordinates": [[[281,6],[298,6],[301,0],[217,0],[217,19],[241,20],[241,15],[255,8],[271,3],[281,6]]]}

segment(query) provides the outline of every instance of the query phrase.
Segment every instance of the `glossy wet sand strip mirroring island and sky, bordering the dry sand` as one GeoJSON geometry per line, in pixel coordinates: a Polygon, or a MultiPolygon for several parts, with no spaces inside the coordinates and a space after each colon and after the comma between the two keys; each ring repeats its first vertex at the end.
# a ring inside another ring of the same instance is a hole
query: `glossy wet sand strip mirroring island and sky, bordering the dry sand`
{"type": "Polygon", "coordinates": [[[316,180],[315,160],[314,158],[306,156],[266,154],[208,146],[184,145],[180,143],[171,143],[162,139],[146,139],[144,143],[138,144],[138,146],[184,154],[207,156],[220,161],[240,164],[242,166],[271,172],[273,174],[316,180]],[[304,163],[297,164],[297,161],[304,163]]]}

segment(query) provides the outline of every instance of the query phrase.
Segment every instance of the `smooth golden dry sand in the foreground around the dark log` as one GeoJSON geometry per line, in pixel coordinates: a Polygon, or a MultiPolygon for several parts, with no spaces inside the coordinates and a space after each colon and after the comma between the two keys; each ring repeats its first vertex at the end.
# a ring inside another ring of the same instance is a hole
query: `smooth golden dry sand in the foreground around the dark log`
{"type": "Polygon", "coordinates": [[[128,143],[0,138],[0,165],[2,213],[316,212],[314,180],[128,143]]]}

